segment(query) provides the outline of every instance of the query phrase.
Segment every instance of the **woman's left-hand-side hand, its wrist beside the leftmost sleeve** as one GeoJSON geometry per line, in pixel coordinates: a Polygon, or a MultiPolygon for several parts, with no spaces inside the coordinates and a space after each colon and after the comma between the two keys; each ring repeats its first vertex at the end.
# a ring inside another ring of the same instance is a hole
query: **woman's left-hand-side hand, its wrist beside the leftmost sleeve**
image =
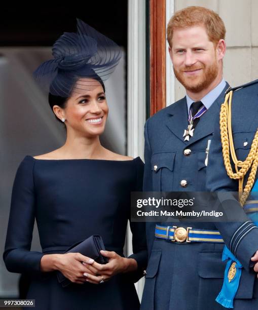
{"type": "Polygon", "coordinates": [[[98,273],[93,263],[93,259],[80,253],[47,254],[41,259],[41,270],[59,270],[71,282],[83,284],[87,279],[84,274],[94,276],[98,273]]]}

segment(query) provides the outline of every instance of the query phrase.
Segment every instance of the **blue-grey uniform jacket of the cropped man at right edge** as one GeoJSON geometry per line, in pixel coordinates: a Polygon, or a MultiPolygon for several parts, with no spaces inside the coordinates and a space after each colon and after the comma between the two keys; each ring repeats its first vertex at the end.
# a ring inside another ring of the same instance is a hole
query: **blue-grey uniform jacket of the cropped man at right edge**
{"type": "MultiPolygon", "coordinates": [[[[216,123],[218,124],[218,120],[216,123]]],[[[235,88],[233,92],[232,132],[238,160],[246,159],[257,128],[258,80],[255,80],[243,85],[242,88],[235,88]]],[[[210,191],[238,191],[238,180],[229,178],[225,169],[218,127],[214,132],[209,156],[207,189],[210,191]]],[[[244,179],[244,185],[248,175],[249,173],[244,179]]],[[[257,173],[255,179],[257,179],[257,173]]],[[[221,202],[223,203],[223,199],[221,202]]],[[[238,203],[235,205],[236,208],[241,209],[238,203]]],[[[250,258],[258,250],[258,227],[250,223],[249,220],[246,218],[245,223],[216,223],[226,245],[243,265],[240,286],[234,301],[235,310],[258,309],[258,279],[257,274],[253,272],[254,263],[250,261],[250,258]]]]}

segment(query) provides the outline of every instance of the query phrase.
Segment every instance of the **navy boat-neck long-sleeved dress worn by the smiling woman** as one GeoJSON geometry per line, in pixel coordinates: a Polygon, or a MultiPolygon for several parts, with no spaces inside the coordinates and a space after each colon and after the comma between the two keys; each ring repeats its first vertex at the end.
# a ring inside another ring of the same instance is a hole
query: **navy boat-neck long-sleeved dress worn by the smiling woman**
{"type": "Polygon", "coordinates": [[[36,160],[20,164],[12,192],[4,260],[10,272],[29,274],[27,298],[36,309],[138,309],[133,282],[143,275],[147,252],[144,223],[130,222],[136,272],[119,274],[99,285],[63,288],[56,273],[43,273],[44,254],[62,253],[91,235],[100,235],[106,250],[123,255],[130,219],[130,192],[142,188],[143,163],[108,160],[36,160]],[[30,251],[34,220],[42,252],[30,251]]]}

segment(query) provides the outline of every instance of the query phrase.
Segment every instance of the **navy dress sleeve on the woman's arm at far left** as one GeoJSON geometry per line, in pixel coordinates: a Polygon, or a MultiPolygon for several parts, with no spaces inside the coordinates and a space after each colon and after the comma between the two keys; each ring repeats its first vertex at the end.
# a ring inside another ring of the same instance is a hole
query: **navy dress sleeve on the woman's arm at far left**
{"type": "Polygon", "coordinates": [[[13,273],[38,273],[41,252],[30,251],[35,221],[35,190],[33,169],[35,161],[25,157],[14,180],[4,261],[13,273]]]}

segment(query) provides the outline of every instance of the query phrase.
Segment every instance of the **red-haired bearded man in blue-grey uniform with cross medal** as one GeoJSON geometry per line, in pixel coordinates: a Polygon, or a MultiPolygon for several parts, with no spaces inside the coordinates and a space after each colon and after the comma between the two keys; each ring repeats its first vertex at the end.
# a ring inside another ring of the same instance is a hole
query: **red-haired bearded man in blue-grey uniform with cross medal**
{"type": "MultiPolygon", "coordinates": [[[[222,19],[205,8],[189,7],[170,19],[169,54],[187,94],[145,124],[144,191],[206,190],[205,150],[229,87],[223,79],[225,33],[222,19]]],[[[155,223],[146,223],[149,263],[141,309],[223,309],[215,298],[223,283],[224,244],[212,238],[188,242],[187,227],[205,234],[216,230],[214,224],[159,225],[168,236],[157,238],[155,223]]]]}

